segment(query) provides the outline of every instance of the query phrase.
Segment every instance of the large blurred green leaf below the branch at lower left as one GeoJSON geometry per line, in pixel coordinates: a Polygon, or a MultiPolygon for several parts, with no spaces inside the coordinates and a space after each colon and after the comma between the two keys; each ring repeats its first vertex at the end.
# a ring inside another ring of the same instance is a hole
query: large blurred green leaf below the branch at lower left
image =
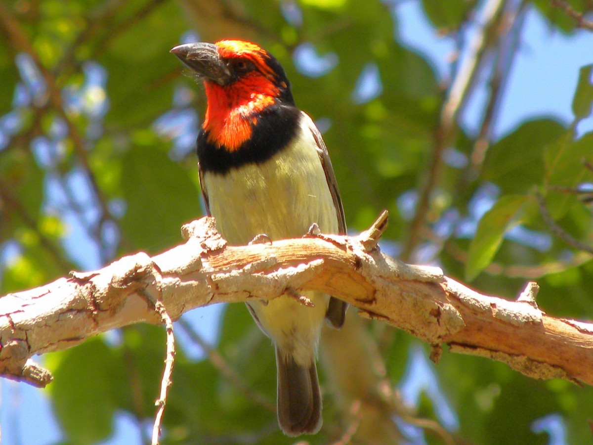
{"type": "Polygon", "coordinates": [[[52,354],[49,386],[56,417],[76,444],[97,443],[113,430],[114,382],[125,379],[121,361],[98,337],[52,354]]]}

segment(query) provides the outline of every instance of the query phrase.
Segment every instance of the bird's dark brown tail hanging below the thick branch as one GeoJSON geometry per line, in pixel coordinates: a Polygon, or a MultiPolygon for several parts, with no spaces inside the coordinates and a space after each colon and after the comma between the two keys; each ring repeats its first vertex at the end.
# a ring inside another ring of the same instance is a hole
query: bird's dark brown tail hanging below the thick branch
{"type": "Polygon", "coordinates": [[[321,393],[315,359],[310,367],[282,358],[276,347],[278,368],[278,423],[286,436],[315,434],[321,428],[321,393]]]}

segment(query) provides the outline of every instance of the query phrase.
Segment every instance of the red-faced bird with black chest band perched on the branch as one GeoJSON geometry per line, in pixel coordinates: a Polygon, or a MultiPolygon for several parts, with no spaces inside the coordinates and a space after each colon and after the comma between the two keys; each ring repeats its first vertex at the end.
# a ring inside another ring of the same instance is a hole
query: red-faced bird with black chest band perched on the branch
{"type": "MultiPolygon", "coordinates": [[[[230,245],[257,236],[301,237],[313,224],[346,234],[340,193],[326,145],[299,110],[278,60],[255,43],[220,40],[171,49],[203,81],[206,113],[197,136],[206,212],[230,245]]],[[[323,422],[315,364],[324,320],[341,328],[347,304],[294,290],[247,303],[275,344],[276,411],[286,436],[317,433],[323,422]],[[298,296],[298,294],[297,294],[298,296]]]]}

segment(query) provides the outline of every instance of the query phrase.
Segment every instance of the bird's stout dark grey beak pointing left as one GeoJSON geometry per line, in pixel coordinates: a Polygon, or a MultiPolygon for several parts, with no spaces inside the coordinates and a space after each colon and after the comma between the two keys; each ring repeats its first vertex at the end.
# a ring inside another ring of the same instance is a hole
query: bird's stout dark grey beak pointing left
{"type": "Polygon", "coordinates": [[[216,45],[212,43],[187,43],[170,51],[193,69],[200,77],[225,85],[232,80],[231,72],[222,61],[216,45]]]}

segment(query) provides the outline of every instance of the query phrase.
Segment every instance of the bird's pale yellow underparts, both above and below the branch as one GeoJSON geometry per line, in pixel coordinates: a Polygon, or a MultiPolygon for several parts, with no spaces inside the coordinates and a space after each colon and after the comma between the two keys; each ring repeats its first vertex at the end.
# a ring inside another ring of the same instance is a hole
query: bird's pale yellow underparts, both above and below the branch
{"type": "MultiPolygon", "coordinates": [[[[247,244],[258,234],[272,240],[301,237],[317,222],[337,233],[337,212],[315,141],[301,119],[301,134],[288,150],[263,164],[248,164],[223,175],[205,173],[205,189],[216,226],[230,244],[247,244]]],[[[250,306],[264,332],[297,363],[313,359],[329,297],[307,294],[314,307],[282,296],[250,306]]]]}

